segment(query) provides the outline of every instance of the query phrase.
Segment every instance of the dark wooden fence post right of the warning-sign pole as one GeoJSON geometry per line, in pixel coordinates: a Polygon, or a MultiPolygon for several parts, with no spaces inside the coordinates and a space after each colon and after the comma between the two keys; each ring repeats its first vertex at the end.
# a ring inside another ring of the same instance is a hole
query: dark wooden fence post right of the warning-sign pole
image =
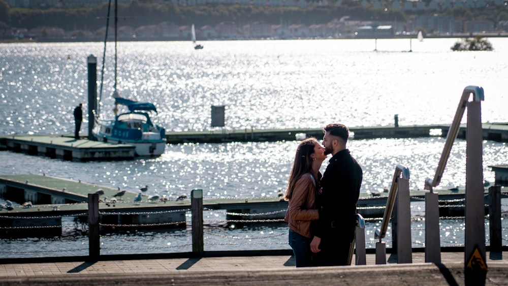
{"type": "Polygon", "coordinates": [[[489,226],[490,226],[490,252],[502,251],[501,227],[501,187],[489,187],[489,226]]]}

